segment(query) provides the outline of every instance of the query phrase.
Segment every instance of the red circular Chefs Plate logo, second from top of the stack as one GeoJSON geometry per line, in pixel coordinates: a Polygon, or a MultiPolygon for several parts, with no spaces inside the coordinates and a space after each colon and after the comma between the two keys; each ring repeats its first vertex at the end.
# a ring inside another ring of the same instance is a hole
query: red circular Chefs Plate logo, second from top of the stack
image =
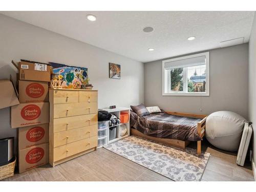
{"type": "Polygon", "coordinates": [[[38,118],[40,114],[41,114],[41,110],[39,106],[35,104],[28,104],[24,106],[22,111],[20,111],[20,115],[22,116],[22,118],[28,121],[38,118]]]}

